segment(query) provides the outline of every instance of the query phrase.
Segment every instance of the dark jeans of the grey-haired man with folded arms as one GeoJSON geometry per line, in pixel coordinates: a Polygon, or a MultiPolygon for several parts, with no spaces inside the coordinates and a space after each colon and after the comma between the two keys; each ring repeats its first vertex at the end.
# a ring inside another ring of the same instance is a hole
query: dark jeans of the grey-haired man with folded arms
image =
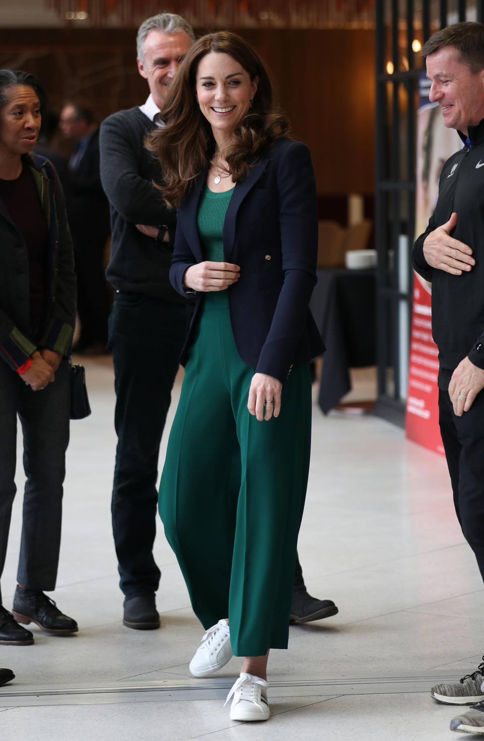
{"type": "Polygon", "coordinates": [[[109,344],[115,373],[118,435],[112,488],[112,534],[119,585],[127,598],[158,589],[152,554],[158,503],[158,455],[191,302],[171,304],[115,292],[109,344]]]}

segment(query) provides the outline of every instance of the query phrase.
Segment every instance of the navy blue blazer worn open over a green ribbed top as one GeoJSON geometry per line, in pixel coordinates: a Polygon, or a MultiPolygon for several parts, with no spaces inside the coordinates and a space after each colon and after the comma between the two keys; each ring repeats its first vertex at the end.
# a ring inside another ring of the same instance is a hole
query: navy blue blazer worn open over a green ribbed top
{"type": "MultiPolygon", "coordinates": [[[[178,209],[169,278],[185,294],[186,268],[203,262],[197,209],[206,181],[178,209]]],[[[225,262],[239,265],[241,277],[227,289],[235,345],[246,365],[282,383],[294,363],[324,352],[309,311],[316,284],[317,202],[315,173],[305,144],[279,139],[235,185],[223,223],[225,262]]],[[[204,300],[196,296],[192,324],[181,352],[189,356],[204,300]]]]}

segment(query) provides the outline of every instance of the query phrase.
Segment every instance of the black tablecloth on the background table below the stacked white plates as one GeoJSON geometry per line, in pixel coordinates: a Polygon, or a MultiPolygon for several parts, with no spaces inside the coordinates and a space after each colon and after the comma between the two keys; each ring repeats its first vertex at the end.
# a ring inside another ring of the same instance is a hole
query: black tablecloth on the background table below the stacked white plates
{"type": "Polygon", "coordinates": [[[317,270],[310,308],[326,345],[318,402],[325,414],[351,390],[349,368],[376,363],[375,270],[317,270]]]}

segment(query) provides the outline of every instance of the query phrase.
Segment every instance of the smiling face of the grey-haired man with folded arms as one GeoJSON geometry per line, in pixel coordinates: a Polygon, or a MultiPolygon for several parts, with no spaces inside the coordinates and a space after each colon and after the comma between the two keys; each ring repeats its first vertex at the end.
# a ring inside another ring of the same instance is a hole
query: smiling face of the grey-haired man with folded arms
{"type": "Polygon", "coordinates": [[[149,92],[158,108],[163,107],[169,84],[191,44],[192,39],[186,31],[164,33],[153,29],[144,40],[143,59],[137,60],[138,71],[147,79],[149,92]]]}

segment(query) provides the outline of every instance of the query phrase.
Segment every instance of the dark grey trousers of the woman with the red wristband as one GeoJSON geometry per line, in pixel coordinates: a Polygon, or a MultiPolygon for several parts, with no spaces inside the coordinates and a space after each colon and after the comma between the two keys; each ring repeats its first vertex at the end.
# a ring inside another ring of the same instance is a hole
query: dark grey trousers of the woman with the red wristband
{"type": "Polygon", "coordinates": [[[21,376],[0,361],[0,574],[4,568],[16,495],[18,415],[24,437],[27,481],[17,580],[28,589],[50,591],[56,588],[69,405],[69,363],[66,359],[56,371],[55,382],[43,391],[32,391],[21,376]]]}

